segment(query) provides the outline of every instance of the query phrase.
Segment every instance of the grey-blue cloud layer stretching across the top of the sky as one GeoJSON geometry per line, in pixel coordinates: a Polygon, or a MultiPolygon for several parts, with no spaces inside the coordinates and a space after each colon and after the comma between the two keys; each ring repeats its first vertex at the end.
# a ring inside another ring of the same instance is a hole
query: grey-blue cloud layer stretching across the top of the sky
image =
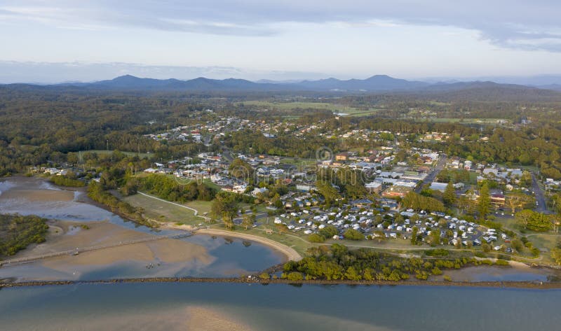
{"type": "Polygon", "coordinates": [[[0,16],[58,27],[133,27],[235,36],[283,33],[282,24],[386,29],[461,27],[503,48],[561,51],[557,0],[6,0],[0,16]]]}

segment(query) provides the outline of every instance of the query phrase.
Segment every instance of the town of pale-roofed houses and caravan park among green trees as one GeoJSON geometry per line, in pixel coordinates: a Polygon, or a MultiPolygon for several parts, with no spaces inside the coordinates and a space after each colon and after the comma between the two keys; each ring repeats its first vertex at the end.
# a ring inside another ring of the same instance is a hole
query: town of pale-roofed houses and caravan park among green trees
{"type": "MultiPolygon", "coordinates": [[[[334,114],[332,120],[345,120],[341,115],[334,114]]],[[[340,125],[331,128],[331,119],[311,124],[249,120],[224,117],[210,109],[201,111],[201,118],[204,121],[145,136],[158,142],[196,143],[203,150],[198,147],[188,156],[158,160],[139,169],[144,174],[137,176],[153,176],[156,181],[174,178],[180,186],[200,183],[244,196],[250,204],[232,205],[236,210],[229,217],[222,217],[223,211],[205,212],[212,216],[208,220],[224,222],[230,229],[250,223],[255,230],[292,234],[311,244],[363,241],[373,247],[381,243],[396,249],[442,246],[536,258],[545,252],[533,247],[513,225],[527,224],[529,218],[543,219],[552,228],[559,225],[544,198],[544,190],[552,195],[560,188],[559,181],[537,179],[529,168],[477,162],[428,148],[449,139],[485,144],[489,134],[411,134],[353,125],[341,129],[340,125]],[[306,140],[313,135],[326,145],[340,143],[337,150],[321,146],[309,153],[311,157],[229,147],[231,135],[244,130],[269,141],[306,140]]],[[[68,164],[33,171],[82,176],[79,167],[68,164]]],[[[200,220],[189,224],[206,225],[200,220]]]]}

